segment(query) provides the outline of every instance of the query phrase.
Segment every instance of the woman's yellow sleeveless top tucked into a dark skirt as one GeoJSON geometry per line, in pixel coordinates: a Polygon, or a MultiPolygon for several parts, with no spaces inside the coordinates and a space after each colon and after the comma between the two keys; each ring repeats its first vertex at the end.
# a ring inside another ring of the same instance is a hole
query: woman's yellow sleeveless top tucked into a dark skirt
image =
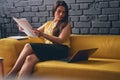
{"type": "MultiPolygon", "coordinates": [[[[48,21],[45,23],[45,27],[44,27],[44,33],[48,34],[48,35],[53,35],[53,29],[56,26],[56,23],[52,22],[52,21],[48,21]]],[[[63,45],[66,45],[68,47],[70,47],[70,36],[62,43],[63,45]]],[[[53,44],[51,41],[45,39],[45,43],[46,44],[53,44]]]]}

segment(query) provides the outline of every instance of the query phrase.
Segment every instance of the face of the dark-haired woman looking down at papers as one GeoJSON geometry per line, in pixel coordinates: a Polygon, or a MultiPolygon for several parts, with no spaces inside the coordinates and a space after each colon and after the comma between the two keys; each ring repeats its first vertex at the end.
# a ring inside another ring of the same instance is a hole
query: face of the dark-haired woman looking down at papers
{"type": "Polygon", "coordinates": [[[65,17],[65,8],[63,6],[59,6],[54,14],[54,21],[61,21],[65,17]]]}

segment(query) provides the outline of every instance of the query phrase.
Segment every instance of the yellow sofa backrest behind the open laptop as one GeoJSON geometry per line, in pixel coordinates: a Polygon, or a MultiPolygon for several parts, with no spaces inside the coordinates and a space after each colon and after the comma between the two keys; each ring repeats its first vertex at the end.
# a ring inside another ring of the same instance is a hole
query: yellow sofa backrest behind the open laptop
{"type": "Polygon", "coordinates": [[[77,50],[98,48],[91,57],[120,59],[119,35],[71,35],[70,40],[70,56],[77,50]]]}

